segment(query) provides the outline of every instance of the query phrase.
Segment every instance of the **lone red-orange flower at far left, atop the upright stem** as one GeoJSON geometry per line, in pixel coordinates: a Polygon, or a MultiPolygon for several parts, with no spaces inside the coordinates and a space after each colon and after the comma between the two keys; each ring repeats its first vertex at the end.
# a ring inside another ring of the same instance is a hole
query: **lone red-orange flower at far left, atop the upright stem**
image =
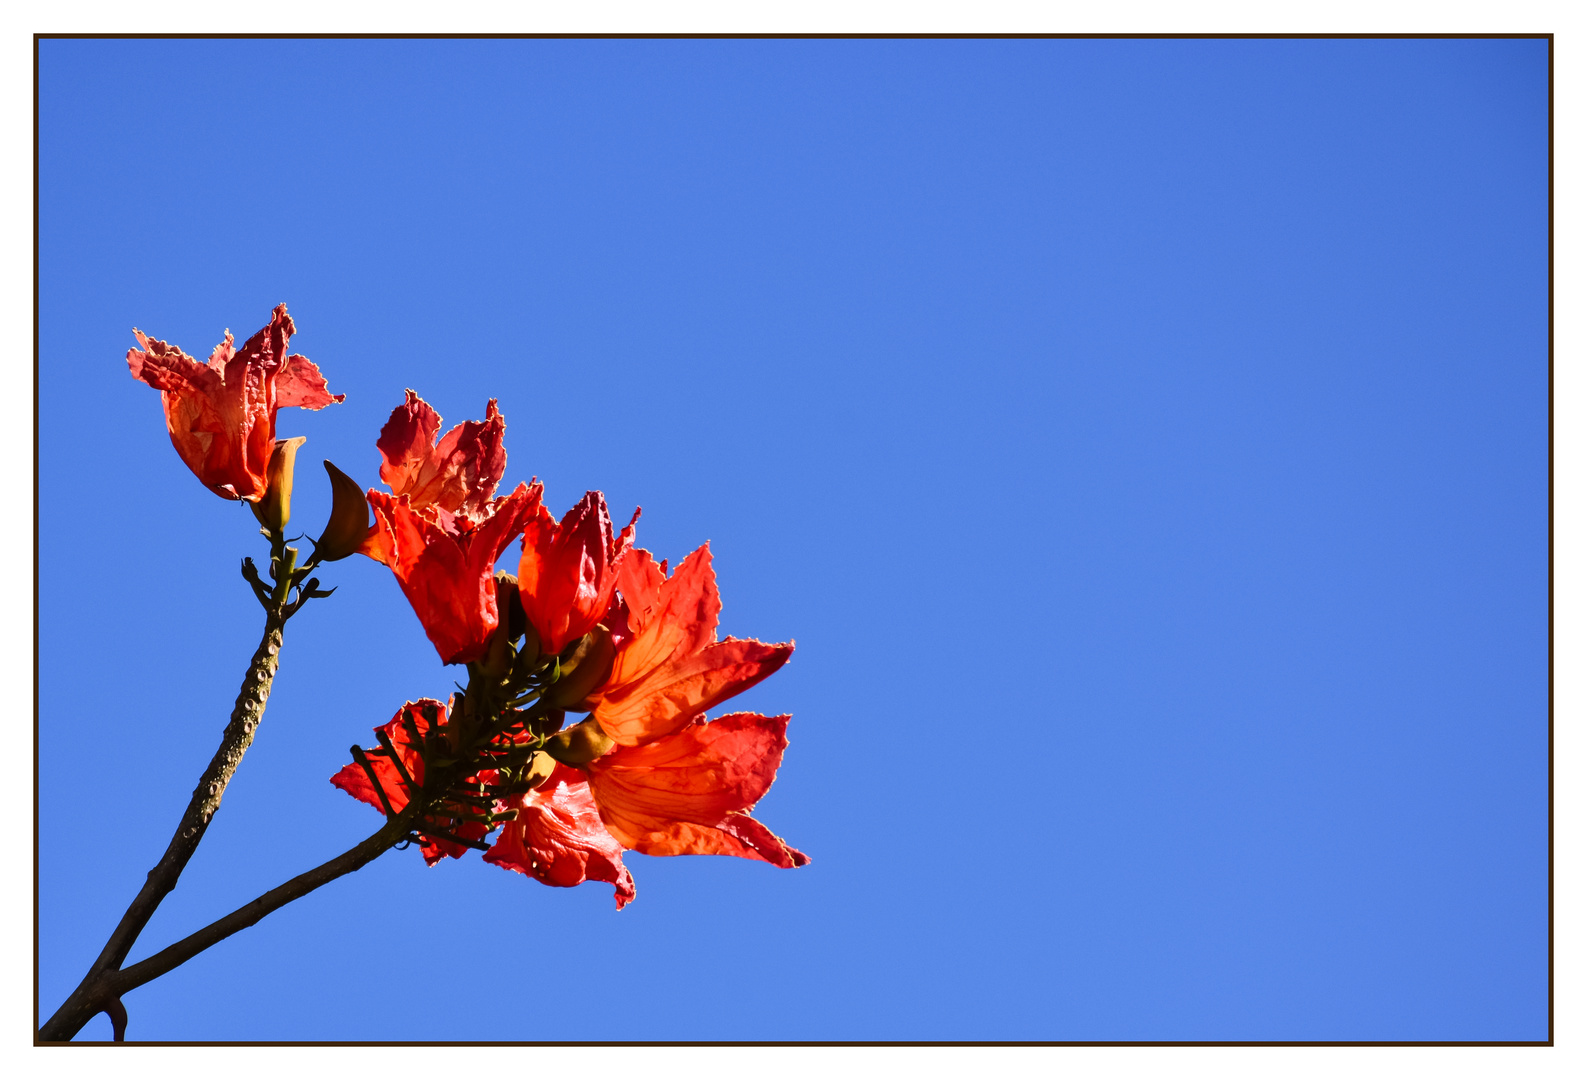
{"type": "Polygon", "coordinates": [[[227,330],[206,363],[138,330],[132,333],[141,346],[127,350],[132,377],[160,392],[171,444],[194,476],[222,498],[263,498],[278,409],[322,409],[346,398],[330,393],[313,360],[287,355],[297,327],[286,304],[278,304],[270,325],[241,349],[232,347],[227,330]]]}

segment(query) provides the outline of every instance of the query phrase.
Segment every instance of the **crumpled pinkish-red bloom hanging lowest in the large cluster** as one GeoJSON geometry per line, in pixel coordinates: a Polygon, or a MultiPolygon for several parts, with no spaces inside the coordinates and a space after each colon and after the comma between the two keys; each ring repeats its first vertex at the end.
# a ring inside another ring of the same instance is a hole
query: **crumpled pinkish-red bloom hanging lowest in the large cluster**
{"type": "Polygon", "coordinates": [[[635,894],[622,845],[601,825],[582,774],[565,764],[522,798],[517,818],[501,828],[484,861],[562,888],[608,882],[617,910],[635,894]]]}

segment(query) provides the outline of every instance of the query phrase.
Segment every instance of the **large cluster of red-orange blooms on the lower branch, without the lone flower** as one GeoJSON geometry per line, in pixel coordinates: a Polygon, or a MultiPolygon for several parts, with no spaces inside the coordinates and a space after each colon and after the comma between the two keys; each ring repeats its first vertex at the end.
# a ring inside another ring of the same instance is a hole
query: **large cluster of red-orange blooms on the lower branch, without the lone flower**
{"type": "MultiPolygon", "coordinates": [[[[789,718],[754,712],[705,717],[787,663],[794,644],[717,641],[722,601],[709,546],[668,576],[667,563],[633,547],[638,511],[614,534],[598,492],[586,493],[560,522],[541,506],[538,484],[519,487],[522,503],[508,506],[519,492],[490,501],[506,461],[500,449],[505,425],[495,401],[486,417],[438,441],[440,417],[409,390],[378,442],[381,477],[392,495],[367,493],[376,525],[360,550],[397,571],[443,658],[481,658],[500,622],[497,604],[513,596],[519,601],[513,611],[521,606],[530,628],[530,644],[513,650],[517,617],[508,622],[509,634],[494,642],[494,660],[471,669],[468,707],[486,712],[460,714],[473,715],[470,723],[492,725],[495,733],[478,744],[484,747],[478,758],[454,766],[476,769],[475,780],[486,785],[481,798],[494,785],[486,799],[494,807],[492,825],[454,818],[455,831],[436,828],[475,842],[500,826],[487,863],[546,885],[608,882],[619,909],[635,894],[624,848],[805,866],[806,855],[749,814],[782,763],[789,718]],[[511,525],[497,531],[505,520],[511,525]],[[517,579],[492,579],[490,565],[519,530],[517,579]],[[478,546],[478,558],[468,544],[478,546]],[[443,557],[451,561],[443,565],[443,557]],[[506,590],[503,601],[498,588],[506,590]],[[465,611],[476,598],[476,607],[465,611]],[[476,677],[486,680],[479,698],[473,696],[476,677]],[[535,693],[513,703],[492,698],[505,685],[517,687],[513,693],[535,687],[535,693]],[[590,715],[557,731],[565,709],[590,715]],[[514,764],[514,755],[528,749],[546,766],[532,779],[514,764]]],[[[430,714],[448,723],[433,706],[430,714]]],[[[398,737],[398,720],[384,731],[408,761],[417,750],[398,737]]],[[[371,769],[394,777],[395,764],[387,761],[371,758],[371,769]]],[[[381,777],[384,788],[389,777],[381,777]]],[[[365,802],[378,802],[362,766],[343,769],[335,782],[365,802]]],[[[403,804],[390,799],[390,806],[400,812],[403,804]]],[[[448,844],[430,837],[425,858],[435,863],[460,853],[455,842],[448,844]]]]}

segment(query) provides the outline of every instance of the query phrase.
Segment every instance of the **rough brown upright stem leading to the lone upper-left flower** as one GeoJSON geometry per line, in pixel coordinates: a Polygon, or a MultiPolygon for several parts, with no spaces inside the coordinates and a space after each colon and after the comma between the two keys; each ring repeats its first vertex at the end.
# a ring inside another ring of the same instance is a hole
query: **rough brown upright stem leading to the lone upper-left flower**
{"type": "Polygon", "coordinates": [[[203,841],[209,821],[221,807],[221,796],[225,795],[225,787],[230,783],[232,774],[236,772],[243,753],[248,752],[248,747],[254,741],[259,722],[265,715],[265,703],[270,699],[270,685],[275,680],[279,664],[282,630],[287,620],[311,596],[329,595],[316,588],[317,582],[305,582],[316,560],[309,560],[306,566],[298,568],[298,552],[295,547],[286,546],[281,528],[270,533],[270,555],[273,587],[265,585],[259,579],[252,560],[243,560],[243,576],[248,577],[265,609],[265,633],[259,641],[259,649],[254,650],[248,672],[243,676],[243,687],[238,690],[236,704],[232,707],[232,718],[225,725],[225,733],[221,736],[221,747],[214,752],[209,766],[198,779],[198,787],[194,788],[187,810],[176,826],[176,834],[171,836],[171,842],[167,845],[160,861],[149,871],[143,888],[138,890],[132,906],[127,907],[116,929],[111,931],[105,948],[89,967],[87,975],[83,977],[78,988],[71,991],[71,996],[40,1028],[38,1037],[43,1042],[71,1039],[100,1012],[110,1013],[116,1039],[122,1037],[127,1020],[125,1010],[119,1002],[121,991],[116,990],[119,982],[114,975],[117,975],[122,961],[127,959],[127,953],[132,952],[138,934],[143,933],[143,928],[154,917],[156,909],[176,888],[176,879],[181,877],[187,861],[198,848],[198,842],[203,841]],[[294,590],[297,590],[295,596],[294,590]]]}

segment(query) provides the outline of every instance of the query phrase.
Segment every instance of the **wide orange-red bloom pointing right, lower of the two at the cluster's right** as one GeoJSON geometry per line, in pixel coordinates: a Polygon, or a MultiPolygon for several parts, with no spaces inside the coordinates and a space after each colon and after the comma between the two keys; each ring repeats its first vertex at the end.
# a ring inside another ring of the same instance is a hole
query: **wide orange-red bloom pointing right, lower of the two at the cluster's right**
{"type": "Polygon", "coordinates": [[[774,866],[809,858],[751,818],[787,749],[784,717],[735,712],[586,766],[606,829],[646,855],[736,855],[774,866]]]}

